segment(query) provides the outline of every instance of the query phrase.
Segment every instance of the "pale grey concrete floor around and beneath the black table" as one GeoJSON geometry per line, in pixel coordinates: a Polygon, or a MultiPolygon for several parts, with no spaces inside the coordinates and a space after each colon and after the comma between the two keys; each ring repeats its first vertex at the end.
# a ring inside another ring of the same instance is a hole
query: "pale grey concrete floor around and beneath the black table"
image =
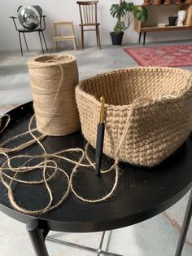
{"type": "MultiPolygon", "coordinates": [[[[151,45],[172,44],[175,42],[153,43],[151,45]]],[[[178,42],[179,44],[185,42],[178,42]]],[[[85,51],[59,51],[76,55],[79,66],[80,80],[96,73],[103,73],[114,68],[136,66],[137,63],[129,57],[123,47],[103,46],[88,48],[85,51]]],[[[41,54],[29,51],[20,56],[20,52],[0,52],[0,113],[6,113],[11,108],[32,99],[28,79],[27,60],[41,54]]],[[[192,69],[192,67],[185,67],[192,69]]],[[[184,196],[166,212],[138,223],[131,227],[115,230],[111,236],[109,250],[124,256],[173,256],[181,231],[181,223],[189,194],[184,196]]],[[[0,212],[0,256],[33,256],[34,252],[23,223],[19,223],[0,212]]],[[[59,233],[50,232],[53,237],[72,241],[87,246],[98,247],[101,233],[59,233]]],[[[46,241],[51,256],[95,255],[81,249],[72,249],[46,241]]],[[[107,237],[104,245],[107,245],[107,237]]],[[[104,246],[105,248],[105,246],[104,246]]],[[[185,242],[182,256],[192,255],[192,224],[185,242]]]]}

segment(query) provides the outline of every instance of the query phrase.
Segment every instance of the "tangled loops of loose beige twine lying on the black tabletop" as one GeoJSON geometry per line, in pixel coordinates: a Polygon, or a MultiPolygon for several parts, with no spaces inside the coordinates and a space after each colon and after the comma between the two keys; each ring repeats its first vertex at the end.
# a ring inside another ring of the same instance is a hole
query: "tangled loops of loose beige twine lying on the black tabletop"
{"type": "MultiPolygon", "coordinates": [[[[4,124],[4,126],[2,126],[2,130],[4,130],[8,126],[9,122],[11,121],[11,117],[9,115],[5,115],[5,116],[7,116],[8,118],[7,118],[7,122],[4,124]]],[[[3,116],[3,117],[5,117],[5,116],[3,116]]],[[[0,118],[0,121],[3,117],[0,118]]],[[[9,198],[9,201],[10,201],[12,207],[15,210],[18,210],[24,214],[33,214],[33,215],[45,214],[45,213],[49,212],[50,210],[54,210],[55,208],[59,207],[59,205],[63,204],[63,201],[65,201],[68,198],[68,193],[70,192],[70,188],[71,188],[73,194],[78,199],[80,199],[81,201],[89,202],[89,203],[98,203],[101,201],[106,201],[108,198],[110,198],[111,196],[114,195],[114,192],[116,191],[116,187],[118,184],[118,179],[119,179],[119,170],[118,170],[118,162],[117,161],[108,170],[101,171],[103,174],[105,174],[109,171],[112,171],[112,170],[116,171],[116,173],[115,173],[116,177],[115,177],[115,180],[114,180],[114,183],[112,185],[110,192],[108,192],[104,196],[102,196],[98,199],[95,199],[95,200],[86,199],[85,197],[78,195],[75,188],[73,187],[77,169],[81,166],[88,167],[88,168],[93,167],[90,169],[90,171],[94,171],[94,163],[90,160],[89,155],[88,155],[89,143],[86,144],[85,151],[81,148],[68,148],[65,150],[61,150],[59,152],[54,152],[54,153],[49,154],[46,152],[46,148],[44,148],[44,146],[42,145],[42,143],[40,141],[41,135],[36,137],[33,134],[33,131],[37,130],[37,129],[32,129],[32,127],[31,127],[33,118],[34,118],[34,115],[29,121],[28,131],[24,132],[21,135],[15,135],[14,137],[7,139],[5,142],[0,144],[0,156],[6,157],[6,160],[2,163],[2,166],[0,167],[0,179],[1,179],[2,183],[4,184],[4,186],[7,188],[7,196],[9,198]],[[7,146],[8,143],[14,141],[15,139],[20,138],[21,136],[27,135],[27,134],[30,134],[33,137],[33,139],[29,140],[27,143],[20,144],[19,146],[16,146],[15,148],[5,148],[5,146],[7,146]],[[20,155],[14,156],[14,157],[10,157],[8,155],[8,153],[11,153],[11,152],[20,152],[21,149],[28,148],[28,146],[30,146],[33,143],[38,143],[38,145],[41,147],[41,149],[43,151],[43,154],[37,155],[37,156],[20,154],[20,155]],[[74,161],[68,157],[62,156],[62,154],[65,152],[73,152],[73,153],[78,152],[78,153],[81,153],[81,156],[79,157],[78,161],[74,161]],[[27,158],[28,160],[24,161],[22,166],[19,166],[19,167],[12,166],[12,164],[11,164],[12,160],[14,160],[14,159],[21,160],[22,158],[24,158],[24,159],[27,158]],[[68,174],[66,173],[65,170],[59,168],[59,166],[57,165],[57,162],[55,160],[52,160],[54,158],[62,159],[63,161],[69,161],[75,165],[72,169],[72,173],[70,174],[70,177],[68,176],[68,174]],[[30,161],[33,161],[34,159],[40,159],[41,162],[35,166],[29,167],[28,163],[30,161]],[[82,161],[85,159],[89,162],[88,164],[82,163],[82,161]],[[25,180],[25,179],[27,179],[28,172],[31,173],[33,170],[37,170],[37,169],[42,171],[43,179],[37,179],[37,180],[32,180],[32,181],[25,180]],[[54,169],[54,172],[51,175],[47,175],[46,172],[50,169],[54,169]],[[13,175],[10,175],[10,171],[12,172],[13,175]],[[60,200],[58,202],[56,202],[55,204],[53,204],[54,197],[53,197],[53,192],[50,189],[49,183],[52,181],[52,179],[55,178],[55,174],[58,171],[62,172],[65,175],[65,177],[67,178],[68,188],[66,189],[66,191],[63,191],[63,196],[61,196],[60,200]],[[20,173],[26,174],[24,176],[24,179],[18,179],[16,177],[17,174],[20,174],[20,173]],[[47,193],[49,194],[49,197],[50,197],[49,202],[47,203],[47,205],[45,207],[43,207],[40,210],[28,210],[24,206],[21,207],[15,200],[14,191],[11,188],[13,181],[16,183],[25,183],[28,185],[36,185],[36,184],[40,184],[40,183],[45,184],[47,193]]],[[[0,126],[0,128],[1,128],[1,126],[0,126]]],[[[2,130],[0,130],[0,134],[2,133],[2,130]]],[[[46,137],[46,135],[42,135],[42,136],[44,136],[44,138],[46,137]]]]}

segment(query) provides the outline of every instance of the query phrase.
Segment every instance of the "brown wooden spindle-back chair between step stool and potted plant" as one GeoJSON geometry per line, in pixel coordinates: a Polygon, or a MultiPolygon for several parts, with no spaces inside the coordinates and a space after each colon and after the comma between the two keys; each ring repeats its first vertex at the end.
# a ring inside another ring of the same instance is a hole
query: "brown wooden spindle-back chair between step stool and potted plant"
{"type": "Polygon", "coordinates": [[[81,43],[82,50],[84,49],[84,32],[96,31],[97,45],[101,49],[100,34],[98,26],[100,23],[97,21],[97,4],[98,1],[76,2],[79,5],[81,16],[81,43]],[[84,29],[84,27],[95,26],[95,29],[84,29]]]}

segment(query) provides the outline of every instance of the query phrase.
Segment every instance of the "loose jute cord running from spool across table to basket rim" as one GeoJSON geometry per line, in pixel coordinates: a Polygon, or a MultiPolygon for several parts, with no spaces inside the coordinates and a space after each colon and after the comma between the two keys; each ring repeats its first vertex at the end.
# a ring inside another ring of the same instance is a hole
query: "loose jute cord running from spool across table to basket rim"
{"type": "MultiPolygon", "coordinates": [[[[52,60],[52,61],[56,61],[56,60],[52,60]]],[[[63,68],[61,67],[59,62],[58,62],[58,65],[61,70],[61,80],[62,80],[63,79],[63,68]]],[[[55,95],[53,105],[51,107],[50,116],[54,109],[54,105],[57,100],[57,97],[59,95],[60,86],[61,86],[61,82],[59,82],[58,90],[55,95]]],[[[179,94],[179,92],[177,94],[172,93],[171,95],[164,95],[163,97],[169,99],[169,98],[177,97],[178,94],[179,94]]],[[[84,202],[89,202],[89,203],[98,203],[101,201],[106,201],[111,196],[113,196],[115,194],[115,191],[116,191],[116,188],[118,185],[119,176],[120,176],[120,170],[118,167],[119,152],[120,152],[120,148],[122,147],[122,145],[124,143],[124,139],[127,135],[127,132],[129,130],[133,111],[139,104],[145,104],[145,103],[149,104],[152,102],[153,102],[153,99],[138,98],[138,99],[135,99],[133,101],[133,104],[130,105],[129,115],[128,115],[126,123],[124,125],[124,131],[123,131],[123,134],[121,135],[118,147],[116,148],[115,162],[109,169],[101,170],[101,174],[106,174],[112,170],[115,170],[115,181],[112,185],[111,191],[108,192],[107,195],[102,196],[98,199],[94,199],[94,200],[90,200],[90,199],[85,198],[84,196],[79,195],[76,192],[76,189],[74,188],[74,183],[76,183],[75,174],[78,171],[79,167],[87,167],[87,168],[92,167],[91,171],[94,171],[95,163],[93,161],[91,161],[89,154],[88,154],[89,142],[86,144],[85,150],[83,150],[81,148],[68,148],[68,149],[61,150],[59,152],[48,153],[48,152],[46,152],[46,148],[41,143],[41,140],[44,139],[46,137],[46,135],[39,135],[39,136],[34,135],[34,131],[37,131],[37,129],[32,128],[32,123],[33,123],[33,119],[34,119],[34,115],[33,115],[33,117],[31,117],[31,119],[29,121],[27,132],[24,132],[23,134],[20,134],[20,135],[16,135],[15,137],[12,137],[11,139],[7,139],[4,143],[0,144],[0,155],[2,157],[6,158],[6,160],[2,163],[2,166],[0,168],[0,179],[1,179],[2,183],[5,185],[5,187],[7,188],[7,195],[8,195],[8,198],[9,198],[13,208],[15,210],[19,210],[20,212],[22,212],[24,214],[33,214],[33,215],[45,214],[46,212],[53,210],[53,209],[59,207],[59,205],[63,204],[63,201],[66,200],[70,191],[72,191],[72,193],[79,200],[84,201],[84,202]],[[27,143],[20,144],[19,146],[15,147],[15,148],[5,148],[5,146],[7,146],[8,143],[11,143],[11,142],[15,141],[16,139],[20,139],[20,137],[26,136],[26,135],[31,135],[33,139],[29,140],[27,143]],[[37,155],[37,156],[32,155],[31,156],[31,155],[20,154],[20,155],[14,156],[14,157],[9,156],[9,154],[11,152],[20,152],[20,150],[23,150],[24,148],[28,148],[33,143],[37,143],[39,145],[39,147],[41,148],[42,153],[40,155],[37,155]],[[63,154],[65,154],[66,152],[73,152],[73,153],[76,153],[76,155],[81,154],[81,156],[78,158],[77,161],[74,161],[70,157],[63,156],[63,154]],[[20,159],[20,161],[22,159],[24,159],[24,160],[28,159],[28,160],[24,161],[24,163],[21,166],[14,167],[12,165],[12,161],[14,161],[16,159],[20,159]],[[70,176],[67,174],[67,172],[65,170],[59,168],[59,166],[57,165],[57,161],[55,161],[54,159],[68,161],[68,162],[74,164],[74,167],[72,169],[70,176]],[[41,160],[41,161],[40,161],[40,163],[38,163],[35,166],[28,166],[28,164],[33,160],[41,160]],[[88,164],[83,163],[85,160],[88,161],[88,164]],[[42,179],[25,180],[25,179],[17,178],[18,174],[31,173],[33,170],[36,170],[36,171],[41,170],[42,179]],[[53,172],[51,174],[49,174],[49,170],[52,170],[53,172]],[[10,174],[10,171],[12,172],[12,175],[10,174]],[[61,196],[60,200],[58,202],[56,202],[55,204],[53,204],[54,197],[53,197],[53,192],[51,191],[49,182],[55,178],[55,174],[58,172],[64,174],[64,177],[66,179],[63,182],[64,183],[67,182],[68,186],[65,189],[65,191],[63,191],[63,195],[61,196]],[[21,207],[16,202],[15,197],[14,197],[14,192],[12,189],[13,182],[25,183],[28,185],[44,184],[46,186],[46,191],[49,195],[49,201],[47,202],[47,205],[45,205],[42,209],[39,209],[39,210],[28,210],[28,209],[25,209],[24,207],[21,207]]],[[[46,122],[50,121],[50,116],[47,118],[46,122]]],[[[7,120],[3,122],[4,126],[2,128],[0,126],[0,128],[1,128],[0,133],[2,133],[3,130],[6,129],[9,122],[11,121],[11,117],[9,117],[7,114],[5,116],[1,117],[0,120],[3,120],[4,118],[7,118],[7,120]]],[[[1,122],[0,122],[0,124],[1,124],[1,122]]]]}

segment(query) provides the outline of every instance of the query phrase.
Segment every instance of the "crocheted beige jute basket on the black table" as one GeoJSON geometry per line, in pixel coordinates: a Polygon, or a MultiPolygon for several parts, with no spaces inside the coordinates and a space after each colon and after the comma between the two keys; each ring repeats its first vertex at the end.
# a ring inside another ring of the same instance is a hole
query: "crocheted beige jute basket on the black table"
{"type": "Polygon", "coordinates": [[[76,86],[82,133],[95,148],[99,99],[104,96],[103,152],[116,158],[125,132],[118,160],[155,166],[190,135],[191,87],[192,73],[180,68],[125,68],[86,79],[76,86]],[[129,127],[124,130],[128,118],[129,127]]]}

